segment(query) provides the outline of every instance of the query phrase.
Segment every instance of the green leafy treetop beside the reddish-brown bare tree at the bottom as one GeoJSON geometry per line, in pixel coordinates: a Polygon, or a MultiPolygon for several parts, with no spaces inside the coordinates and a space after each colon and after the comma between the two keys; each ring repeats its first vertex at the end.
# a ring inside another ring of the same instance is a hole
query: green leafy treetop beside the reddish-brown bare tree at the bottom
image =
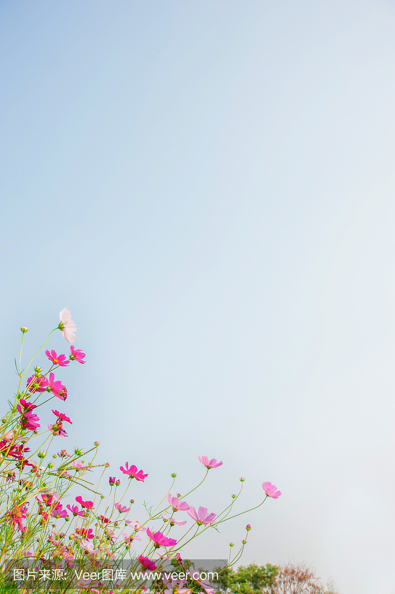
{"type": "Polygon", "coordinates": [[[214,579],[218,592],[226,593],[229,589],[233,594],[262,594],[264,588],[273,586],[279,570],[276,565],[256,565],[251,563],[244,567],[241,565],[236,571],[216,567],[218,579],[214,579]]]}

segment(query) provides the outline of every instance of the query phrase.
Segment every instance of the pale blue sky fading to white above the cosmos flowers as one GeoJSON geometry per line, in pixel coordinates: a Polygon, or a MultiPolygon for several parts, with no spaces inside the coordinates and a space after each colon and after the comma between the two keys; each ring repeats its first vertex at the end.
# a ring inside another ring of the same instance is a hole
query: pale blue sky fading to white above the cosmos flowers
{"type": "Polygon", "coordinates": [[[4,402],[18,328],[33,352],[68,307],[68,447],[149,473],[137,517],[207,454],[188,503],[283,496],[189,557],[248,520],[244,563],[394,594],[394,1],[2,0],[0,27],[4,402]]]}

